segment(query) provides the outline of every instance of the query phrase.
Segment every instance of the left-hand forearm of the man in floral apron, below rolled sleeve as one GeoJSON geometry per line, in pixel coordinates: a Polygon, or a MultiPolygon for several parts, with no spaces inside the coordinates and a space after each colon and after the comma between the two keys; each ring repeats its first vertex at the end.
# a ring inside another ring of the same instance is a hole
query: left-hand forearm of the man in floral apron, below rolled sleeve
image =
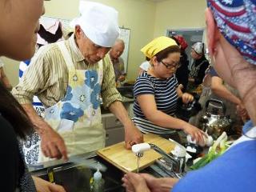
{"type": "Polygon", "coordinates": [[[44,130],[47,128],[50,128],[50,126],[45,122],[42,118],[39,117],[37,112],[34,110],[34,107],[32,104],[22,104],[22,107],[26,111],[26,114],[28,114],[30,121],[35,126],[35,129],[38,131],[38,134],[42,134],[44,130]]]}

